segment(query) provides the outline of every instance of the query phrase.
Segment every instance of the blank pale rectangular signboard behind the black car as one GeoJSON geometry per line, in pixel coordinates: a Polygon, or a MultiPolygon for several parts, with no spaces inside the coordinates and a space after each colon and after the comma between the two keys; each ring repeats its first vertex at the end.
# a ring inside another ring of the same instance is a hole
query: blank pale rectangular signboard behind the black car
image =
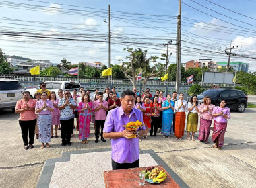
{"type": "Polygon", "coordinates": [[[205,71],[203,74],[203,83],[233,83],[234,73],[205,71]]]}

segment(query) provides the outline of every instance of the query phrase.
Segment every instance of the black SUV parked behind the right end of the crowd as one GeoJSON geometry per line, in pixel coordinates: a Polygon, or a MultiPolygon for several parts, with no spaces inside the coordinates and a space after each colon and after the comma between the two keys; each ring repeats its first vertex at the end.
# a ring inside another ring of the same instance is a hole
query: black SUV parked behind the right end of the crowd
{"type": "MultiPolygon", "coordinates": [[[[203,103],[203,97],[210,97],[212,104],[219,106],[220,101],[224,99],[226,101],[226,107],[238,112],[244,112],[247,108],[248,97],[241,90],[237,89],[208,89],[197,95],[199,103],[203,103]]],[[[187,97],[189,101],[191,97],[187,97]]]]}

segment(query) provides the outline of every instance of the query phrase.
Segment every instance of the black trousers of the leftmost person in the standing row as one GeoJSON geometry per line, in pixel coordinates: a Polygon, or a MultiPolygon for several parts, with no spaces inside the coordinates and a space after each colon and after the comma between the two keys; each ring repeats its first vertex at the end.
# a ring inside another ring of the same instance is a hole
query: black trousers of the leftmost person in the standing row
{"type": "Polygon", "coordinates": [[[29,121],[19,120],[20,129],[22,130],[22,140],[24,146],[28,146],[28,144],[34,144],[34,130],[36,128],[36,119],[29,121]],[[28,142],[28,138],[30,141],[28,142]]]}

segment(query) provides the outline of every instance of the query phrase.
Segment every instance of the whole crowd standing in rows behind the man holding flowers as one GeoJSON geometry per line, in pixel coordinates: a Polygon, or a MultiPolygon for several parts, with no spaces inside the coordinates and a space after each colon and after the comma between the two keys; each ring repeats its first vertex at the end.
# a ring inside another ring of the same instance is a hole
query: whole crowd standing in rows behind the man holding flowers
{"type": "MultiPolygon", "coordinates": [[[[106,87],[104,92],[95,90],[94,95],[90,91],[80,88],[79,93],[74,90],[73,96],[69,91],[59,89],[58,95],[46,89],[46,83],[41,83],[34,99],[30,99],[30,93],[24,91],[23,99],[17,102],[15,112],[20,113],[19,124],[22,130],[24,148],[34,148],[34,134],[41,148],[49,148],[51,138],[58,137],[57,130],[61,126],[61,146],[71,145],[71,136],[75,126],[79,131],[79,140],[83,144],[88,143],[90,137],[90,124],[94,124],[95,142],[98,143],[99,135],[102,142],[106,142],[103,136],[103,129],[108,111],[121,106],[115,87],[112,89],[106,87]],[[79,95],[78,95],[79,94],[79,95]],[[55,134],[53,134],[53,126],[55,134]],[[29,142],[28,142],[29,132],[29,142]],[[44,145],[45,144],[45,145],[44,145]]],[[[182,140],[185,130],[186,112],[187,114],[187,140],[195,141],[195,132],[197,132],[198,114],[200,117],[199,137],[200,142],[208,143],[210,126],[214,119],[214,133],[212,139],[216,143],[214,148],[221,148],[224,144],[224,134],[227,126],[227,119],[230,118],[230,109],[225,107],[225,101],[222,100],[220,107],[211,104],[209,97],[203,99],[199,105],[197,96],[192,95],[189,102],[185,101],[184,94],[173,92],[172,95],[156,90],[152,96],[150,89],[147,88],[143,95],[133,88],[135,103],[133,108],[139,109],[143,116],[143,122],[146,127],[142,138],[148,140],[148,131],[150,136],[156,136],[161,132],[163,138],[170,138],[172,134],[182,140]],[[191,134],[190,134],[191,132],[191,134]]]]}

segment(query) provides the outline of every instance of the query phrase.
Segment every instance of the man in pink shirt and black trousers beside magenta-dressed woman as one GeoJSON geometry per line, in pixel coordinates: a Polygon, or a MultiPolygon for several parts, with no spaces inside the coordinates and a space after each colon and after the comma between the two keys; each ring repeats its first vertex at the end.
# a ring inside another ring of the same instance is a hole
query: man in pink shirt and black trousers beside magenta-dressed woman
{"type": "Polygon", "coordinates": [[[98,143],[98,134],[99,134],[99,128],[101,126],[101,132],[100,136],[102,142],[106,142],[104,137],[102,136],[103,134],[103,128],[104,128],[104,123],[106,120],[106,111],[108,111],[108,102],[103,100],[103,93],[99,92],[98,93],[98,100],[94,101],[94,111],[95,111],[95,143],[98,143]]]}

